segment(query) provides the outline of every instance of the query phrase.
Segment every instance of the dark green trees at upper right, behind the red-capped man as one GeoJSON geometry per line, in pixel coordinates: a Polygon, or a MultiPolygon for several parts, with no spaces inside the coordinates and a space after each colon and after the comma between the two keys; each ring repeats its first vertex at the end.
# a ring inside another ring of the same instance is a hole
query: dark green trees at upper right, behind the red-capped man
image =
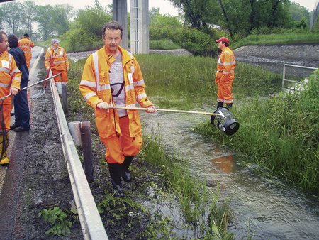
{"type": "Polygon", "coordinates": [[[217,25],[227,29],[231,38],[274,28],[308,28],[310,13],[289,0],[169,0],[184,12],[194,28],[217,25]]]}

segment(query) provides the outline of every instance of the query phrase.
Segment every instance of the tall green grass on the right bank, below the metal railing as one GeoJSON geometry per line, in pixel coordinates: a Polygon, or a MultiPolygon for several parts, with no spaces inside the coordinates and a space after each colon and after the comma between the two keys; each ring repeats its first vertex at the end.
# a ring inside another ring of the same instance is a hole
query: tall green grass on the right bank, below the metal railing
{"type": "Polygon", "coordinates": [[[318,78],[316,70],[302,92],[243,104],[233,111],[241,124],[233,137],[223,136],[210,123],[196,130],[220,138],[286,180],[318,194],[318,78]]]}

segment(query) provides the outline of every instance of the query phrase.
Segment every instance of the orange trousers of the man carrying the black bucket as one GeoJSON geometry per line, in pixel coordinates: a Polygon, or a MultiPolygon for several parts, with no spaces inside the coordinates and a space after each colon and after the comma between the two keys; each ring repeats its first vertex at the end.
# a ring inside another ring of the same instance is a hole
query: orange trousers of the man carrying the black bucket
{"type": "Polygon", "coordinates": [[[142,134],[130,137],[128,116],[120,118],[122,136],[101,138],[106,146],[105,159],[108,163],[123,163],[124,156],[136,156],[142,147],[142,134]]]}

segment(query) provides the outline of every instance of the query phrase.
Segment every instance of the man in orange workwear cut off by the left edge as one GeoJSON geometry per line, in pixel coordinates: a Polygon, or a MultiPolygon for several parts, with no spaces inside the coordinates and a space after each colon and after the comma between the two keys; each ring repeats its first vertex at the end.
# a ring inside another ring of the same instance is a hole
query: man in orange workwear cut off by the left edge
{"type": "MultiPolygon", "coordinates": [[[[6,32],[0,30],[0,98],[9,94],[16,95],[20,89],[21,72],[16,66],[13,56],[8,53],[8,38],[6,32]]],[[[11,97],[6,97],[0,102],[0,165],[9,165],[9,158],[6,156],[6,148],[9,138],[11,114],[11,97]]]]}

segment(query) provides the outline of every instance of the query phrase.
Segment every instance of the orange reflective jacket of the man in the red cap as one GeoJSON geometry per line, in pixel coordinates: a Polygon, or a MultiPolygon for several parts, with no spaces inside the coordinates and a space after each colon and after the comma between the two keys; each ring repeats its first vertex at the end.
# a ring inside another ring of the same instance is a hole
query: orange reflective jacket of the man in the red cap
{"type": "Polygon", "coordinates": [[[217,62],[216,82],[225,82],[225,80],[233,80],[234,69],[236,67],[235,55],[230,48],[224,48],[217,62]]]}

